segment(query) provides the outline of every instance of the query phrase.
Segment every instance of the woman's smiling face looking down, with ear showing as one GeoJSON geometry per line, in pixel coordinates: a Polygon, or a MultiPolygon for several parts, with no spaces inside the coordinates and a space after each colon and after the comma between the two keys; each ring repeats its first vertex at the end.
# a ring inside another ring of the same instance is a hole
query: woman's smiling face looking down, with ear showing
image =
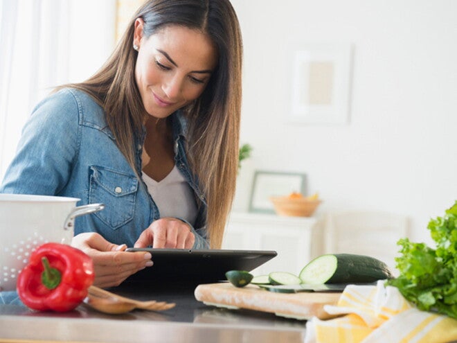
{"type": "Polygon", "coordinates": [[[155,118],[198,98],[217,65],[210,38],[184,26],[165,26],[146,39],[143,20],[136,19],[133,43],[138,46],[136,84],[146,112],[155,118]]]}

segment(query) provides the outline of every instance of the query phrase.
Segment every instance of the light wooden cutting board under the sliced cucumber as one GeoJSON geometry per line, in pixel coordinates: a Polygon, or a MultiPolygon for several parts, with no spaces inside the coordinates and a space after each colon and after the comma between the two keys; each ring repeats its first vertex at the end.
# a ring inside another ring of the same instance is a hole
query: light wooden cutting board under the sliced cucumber
{"type": "Polygon", "coordinates": [[[195,299],[206,305],[224,308],[247,308],[294,319],[328,319],[324,305],[336,305],[341,292],[277,293],[257,285],[236,288],[231,283],[198,285],[195,299]]]}

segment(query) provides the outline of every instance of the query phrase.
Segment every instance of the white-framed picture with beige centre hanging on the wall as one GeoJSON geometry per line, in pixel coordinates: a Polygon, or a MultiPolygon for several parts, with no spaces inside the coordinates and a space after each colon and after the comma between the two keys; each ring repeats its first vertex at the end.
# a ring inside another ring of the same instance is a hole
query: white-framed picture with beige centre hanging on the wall
{"type": "Polygon", "coordinates": [[[297,43],[291,50],[289,122],[348,123],[351,44],[297,43]]]}

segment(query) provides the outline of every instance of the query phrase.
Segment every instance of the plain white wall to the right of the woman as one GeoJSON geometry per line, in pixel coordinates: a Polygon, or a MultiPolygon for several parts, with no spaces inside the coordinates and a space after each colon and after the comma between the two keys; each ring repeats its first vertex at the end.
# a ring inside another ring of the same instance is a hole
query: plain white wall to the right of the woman
{"type": "Polygon", "coordinates": [[[242,164],[235,209],[254,170],[306,173],[332,209],[411,218],[411,239],[457,200],[457,1],[232,0],[244,39],[242,164]],[[350,123],[290,125],[289,42],[354,45],[350,123]]]}

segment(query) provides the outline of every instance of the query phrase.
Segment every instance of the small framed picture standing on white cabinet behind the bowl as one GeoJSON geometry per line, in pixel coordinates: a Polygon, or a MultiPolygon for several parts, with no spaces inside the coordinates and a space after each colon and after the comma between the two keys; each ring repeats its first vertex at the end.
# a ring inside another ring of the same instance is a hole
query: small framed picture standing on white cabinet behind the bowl
{"type": "Polygon", "coordinates": [[[292,192],[306,193],[306,175],[256,170],[249,201],[249,212],[274,213],[269,199],[273,196],[289,195],[292,192]]]}

